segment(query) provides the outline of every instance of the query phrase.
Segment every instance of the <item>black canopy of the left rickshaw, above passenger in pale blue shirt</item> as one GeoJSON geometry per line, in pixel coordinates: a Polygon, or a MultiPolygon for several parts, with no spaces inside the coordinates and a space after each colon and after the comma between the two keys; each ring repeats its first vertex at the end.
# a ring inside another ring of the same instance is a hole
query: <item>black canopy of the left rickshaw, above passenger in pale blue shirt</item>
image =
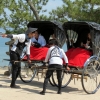
{"type": "Polygon", "coordinates": [[[39,33],[43,35],[48,43],[50,35],[55,34],[60,45],[65,43],[66,36],[62,24],[56,21],[31,21],[28,23],[27,27],[34,27],[39,29],[39,33]]]}

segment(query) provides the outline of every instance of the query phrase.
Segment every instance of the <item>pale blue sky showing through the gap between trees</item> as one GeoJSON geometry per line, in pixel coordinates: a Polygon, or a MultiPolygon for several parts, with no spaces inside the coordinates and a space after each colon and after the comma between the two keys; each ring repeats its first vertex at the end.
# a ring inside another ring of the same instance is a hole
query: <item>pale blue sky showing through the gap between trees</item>
{"type": "MultiPolygon", "coordinates": [[[[49,2],[47,3],[47,5],[43,7],[44,10],[45,9],[47,10],[47,12],[44,12],[44,15],[48,15],[48,13],[50,11],[52,11],[52,9],[56,9],[58,6],[61,7],[62,4],[63,4],[62,0],[49,0],[49,2]]],[[[0,28],[0,33],[1,32],[3,33],[3,32],[5,32],[5,30],[2,29],[2,28],[0,28]]]]}

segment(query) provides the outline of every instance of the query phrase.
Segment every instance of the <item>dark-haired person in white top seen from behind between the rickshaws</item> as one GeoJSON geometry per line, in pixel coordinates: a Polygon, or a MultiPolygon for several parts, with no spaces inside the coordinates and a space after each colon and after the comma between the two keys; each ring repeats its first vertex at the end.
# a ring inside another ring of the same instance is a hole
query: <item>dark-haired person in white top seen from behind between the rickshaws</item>
{"type": "Polygon", "coordinates": [[[45,95],[46,92],[46,87],[48,84],[48,80],[51,77],[51,75],[53,74],[54,70],[52,70],[53,68],[56,68],[56,72],[57,72],[57,79],[58,79],[58,94],[61,94],[61,86],[62,86],[62,78],[61,78],[61,74],[62,74],[62,69],[63,68],[63,60],[62,58],[64,58],[65,62],[66,62],[66,69],[70,69],[67,65],[68,65],[68,58],[65,55],[63,49],[58,47],[58,41],[56,39],[51,39],[49,40],[49,50],[47,52],[46,58],[44,63],[49,61],[49,66],[48,66],[48,71],[46,73],[46,78],[44,80],[43,83],[43,90],[40,92],[40,94],[45,95]]]}

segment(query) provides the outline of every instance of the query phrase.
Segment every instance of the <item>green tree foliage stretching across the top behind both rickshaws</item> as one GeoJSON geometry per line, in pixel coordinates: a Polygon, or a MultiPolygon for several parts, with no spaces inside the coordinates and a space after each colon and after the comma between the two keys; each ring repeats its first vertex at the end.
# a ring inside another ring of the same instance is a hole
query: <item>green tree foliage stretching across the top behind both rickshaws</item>
{"type": "Polygon", "coordinates": [[[62,0],[62,7],[44,15],[49,0],[0,1],[0,26],[9,33],[22,33],[32,20],[94,21],[100,23],[100,0],[62,0]],[[9,29],[10,28],[10,29],[9,29]]]}

